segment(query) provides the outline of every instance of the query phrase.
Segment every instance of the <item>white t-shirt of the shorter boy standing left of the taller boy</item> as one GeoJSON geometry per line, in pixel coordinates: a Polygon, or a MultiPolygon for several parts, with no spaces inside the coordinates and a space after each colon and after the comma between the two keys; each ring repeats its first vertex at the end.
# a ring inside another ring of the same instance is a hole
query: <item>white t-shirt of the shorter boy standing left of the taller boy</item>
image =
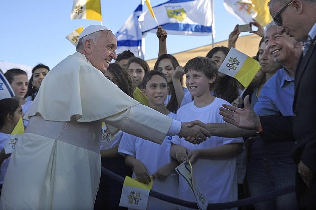
{"type": "MultiPolygon", "coordinates": [[[[172,112],[167,116],[172,119],[176,118],[176,114],[172,112]]],[[[145,165],[149,176],[151,176],[162,166],[171,162],[171,139],[172,136],[166,136],[162,144],[159,145],[124,132],[118,147],[118,153],[123,156],[132,155],[140,160],[145,165]]],[[[132,177],[136,178],[134,172],[132,177]]],[[[152,190],[177,198],[178,176],[176,172],[174,171],[174,173],[169,175],[164,181],[154,180],[152,190]]],[[[147,209],[177,210],[177,205],[150,196],[147,209]]]]}

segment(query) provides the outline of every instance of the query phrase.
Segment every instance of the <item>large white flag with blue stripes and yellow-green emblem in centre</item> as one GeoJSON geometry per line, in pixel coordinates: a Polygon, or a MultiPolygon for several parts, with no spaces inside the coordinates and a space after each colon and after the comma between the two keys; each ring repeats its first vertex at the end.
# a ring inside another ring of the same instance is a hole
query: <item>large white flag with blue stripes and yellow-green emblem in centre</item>
{"type": "MultiPolygon", "coordinates": [[[[213,12],[211,0],[169,0],[154,6],[158,24],[168,34],[212,35],[213,12]]],[[[147,10],[138,18],[142,33],[157,31],[157,23],[147,10]]]]}

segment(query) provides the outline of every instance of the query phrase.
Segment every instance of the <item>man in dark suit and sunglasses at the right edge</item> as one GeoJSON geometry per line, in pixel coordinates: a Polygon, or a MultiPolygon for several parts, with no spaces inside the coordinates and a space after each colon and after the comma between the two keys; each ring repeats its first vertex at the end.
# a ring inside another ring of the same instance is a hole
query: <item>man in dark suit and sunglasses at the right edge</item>
{"type": "Polygon", "coordinates": [[[316,209],[316,0],[271,0],[269,10],[279,32],[304,42],[295,75],[292,158],[299,207],[316,209]]]}

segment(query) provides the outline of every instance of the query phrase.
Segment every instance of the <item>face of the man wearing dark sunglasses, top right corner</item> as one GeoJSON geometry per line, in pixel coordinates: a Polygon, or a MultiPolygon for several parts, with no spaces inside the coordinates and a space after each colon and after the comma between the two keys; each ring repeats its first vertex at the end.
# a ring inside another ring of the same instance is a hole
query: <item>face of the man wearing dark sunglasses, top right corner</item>
{"type": "Polygon", "coordinates": [[[283,11],[277,15],[282,23],[282,27],[278,27],[279,33],[285,32],[289,36],[294,37],[297,41],[304,41],[307,33],[302,31],[302,22],[296,8],[297,2],[300,2],[300,0],[289,0],[288,2],[285,1],[285,3],[279,0],[271,0],[269,11],[271,16],[275,17],[276,14],[283,9],[283,11]]]}

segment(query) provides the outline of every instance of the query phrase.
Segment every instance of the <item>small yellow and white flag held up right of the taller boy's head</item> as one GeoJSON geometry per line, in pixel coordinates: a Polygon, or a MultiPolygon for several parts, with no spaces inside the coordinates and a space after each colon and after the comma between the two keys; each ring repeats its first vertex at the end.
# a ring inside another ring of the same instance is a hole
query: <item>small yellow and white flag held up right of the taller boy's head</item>
{"type": "Polygon", "coordinates": [[[218,72],[234,77],[244,87],[248,87],[259,69],[258,61],[232,47],[218,72]]]}

